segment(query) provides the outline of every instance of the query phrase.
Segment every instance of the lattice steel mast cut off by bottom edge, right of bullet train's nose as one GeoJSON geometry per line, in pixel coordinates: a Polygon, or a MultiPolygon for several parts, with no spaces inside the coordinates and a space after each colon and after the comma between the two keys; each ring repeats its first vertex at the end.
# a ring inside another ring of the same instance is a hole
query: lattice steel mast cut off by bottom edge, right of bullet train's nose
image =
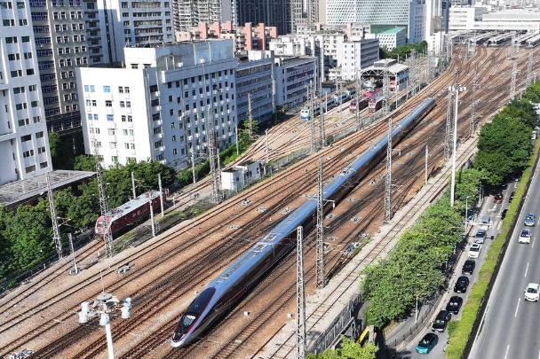
{"type": "Polygon", "coordinates": [[[297,358],[306,358],[306,298],[304,297],[304,251],[302,227],[297,227],[297,358]]]}

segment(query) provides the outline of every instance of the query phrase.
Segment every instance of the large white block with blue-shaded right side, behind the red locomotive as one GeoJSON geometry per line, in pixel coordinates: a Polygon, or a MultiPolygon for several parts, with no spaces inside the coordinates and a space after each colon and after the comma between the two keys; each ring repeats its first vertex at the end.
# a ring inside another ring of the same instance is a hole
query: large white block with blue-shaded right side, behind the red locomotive
{"type": "Polygon", "coordinates": [[[232,40],[126,48],[126,68],[76,69],[85,151],[102,164],[159,160],[175,169],[208,157],[208,119],[215,144],[235,140],[232,40]],[[206,156],[206,157],[205,157],[206,156]]]}

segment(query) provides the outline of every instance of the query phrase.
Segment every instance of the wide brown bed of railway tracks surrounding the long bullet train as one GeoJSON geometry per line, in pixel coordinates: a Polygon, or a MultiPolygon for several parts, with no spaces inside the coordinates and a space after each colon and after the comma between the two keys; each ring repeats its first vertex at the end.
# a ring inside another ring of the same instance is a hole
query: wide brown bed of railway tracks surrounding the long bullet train
{"type": "MultiPolygon", "coordinates": [[[[433,175],[444,163],[443,149],[448,87],[459,83],[467,87],[460,96],[458,137],[464,143],[470,137],[473,82],[476,78],[478,100],[475,119],[483,123],[510,97],[512,64],[517,62],[516,89],[525,86],[527,51],[513,59],[507,48],[479,47],[472,59],[465,48],[455,46],[452,62],[414,98],[390,115],[399,121],[425,98],[435,98],[436,106],[400,144],[393,144],[393,211],[404,207],[424,185],[425,147],[429,149],[429,172],[433,175]],[[503,51],[504,49],[504,51],[503,51]]],[[[535,63],[540,52],[535,51],[535,63]]],[[[474,86],[475,87],[475,86],[474,86]]],[[[518,92],[518,91],[516,91],[518,92]]],[[[345,104],[346,105],[346,104],[345,104]]],[[[366,115],[364,113],[364,115],[366,115]]],[[[353,113],[325,115],[328,135],[356,125],[353,113]]],[[[292,251],[253,289],[233,311],[214,326],[203,339],[186,348],[172,348],[171,334],[179,315],[203,289],[231,262],[317,191],[318,160],[323,161],[323,181],[336,176],[355,157],[385,136],[387,121],[378,121],[333,146],[301,160],[258,183],[249,190],[212,207],[194,220],[180,222],[171,230],[114,258],[102,260],[77,276],[67,275],[68,259],[32,277],[12,293],[0,299],[0,355],[23,348],[35,351],[33,357],[103,357],[107,352],[103,327],[97,318],[78,324],[76,311],[84,300],[92,301],[103,290],[118,298],[131,297],[129,320],[111,318],[115,354],[123,358],[226,358],[259,357],[269,340],[296,313],[296,253],[292,251]],[[116,269],[129,263],[131,270],[119,275],[116,269]],[[249,315],[244,315],[249,313],[249,315]]],[[[478,127],[477,127],[478,128],[478,127]]],[[[298,117],[269,131],[270,159],[309,146],[310,128],[298,117]]],[[[261,138],[242,160],[264,159],[265,142],[261,138]]],[[[359,265],[375,261],[393,238],[370,241],[383,224],[385,163],[350,183],[351,191],[325,218],[326,273],[343,275],[353,256],[345,249],[353,242],[361,247],[359,265]],[[363,249],[362,249],[363,248],[363,249]],[[368,250],[369,254],[362,253],[368,250]],[[361,262],[361,263],[360,263],[361,262]]],[[[204,191],[208,181],[197,183],[193,191],[204,191]]],[[[186,197],[179,201],[187,201],[186,197]]],[[[427,196],[429,197],[429,196],[427,196]]],[[[427,198],[426,197],[426,198],[427,198]]],[[[427,199],[426,199],[427,200],[427,199]]],[[[315,236],[305,233],[306,296],[315,295],[315,236]]],[[[77,253],[77,260],[91,261],[102,250],[102,242],[93,241],[77,253]]],[[[358,260],[357,260],[358,261],[358,260]]],[[[357,271],[350,277],[356,278],[357,271]]],[[[354,280],[351,285],[357,285],[354,280]]],[[[323,291],[322,291],[323,292],[323,291]]],[[[318,292],[317,295],[322,292],[318,292]]],[[[327,291],[328,292],[328,291],[327,291]]],[[[331,295],[332,293],[330,293],[331,295]]],[[[317,308],[317,316],[329,308],[317,308]]],[[[307,328],[310,329],[309,327],[307,328]]],[[[308,335],[309,336],[309,335],[308,335]]],[[[274,357],[290,357],[294,351],[273,347],[274,357]]]]}

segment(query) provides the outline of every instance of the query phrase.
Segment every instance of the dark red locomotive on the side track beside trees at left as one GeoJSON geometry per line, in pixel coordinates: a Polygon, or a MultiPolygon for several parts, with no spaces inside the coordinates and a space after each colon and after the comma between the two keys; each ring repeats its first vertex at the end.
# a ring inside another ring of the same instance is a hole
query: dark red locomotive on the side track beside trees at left
{"type": "MultiPolygon", "coordinates": [[[[141,194],[136,199],[131,199],[120,207],[110,210],[107,215],[107,225],[110,233],[115,236],[123,232],[123,230],[127,230],[129,226],[147,218],[150,215],[150,198],[152,199],[152,207],[154,209],[160,207],[159,194],[159,191],[149,191],[141,194]]],[[[102,215],[96,221],[95,234],[100,237],[105,234],[102,215]]]]}

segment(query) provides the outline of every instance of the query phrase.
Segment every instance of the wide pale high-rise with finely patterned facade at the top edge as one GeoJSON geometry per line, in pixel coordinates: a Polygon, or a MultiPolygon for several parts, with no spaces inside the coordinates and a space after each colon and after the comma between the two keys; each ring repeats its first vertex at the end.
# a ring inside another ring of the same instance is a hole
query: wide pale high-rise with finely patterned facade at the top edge
{"type": "Polygon", "coordinates": [[[417,43],[425,38],[425,0],[327,0],[326,23],[406,27],[409,43],[417,43]]]}

